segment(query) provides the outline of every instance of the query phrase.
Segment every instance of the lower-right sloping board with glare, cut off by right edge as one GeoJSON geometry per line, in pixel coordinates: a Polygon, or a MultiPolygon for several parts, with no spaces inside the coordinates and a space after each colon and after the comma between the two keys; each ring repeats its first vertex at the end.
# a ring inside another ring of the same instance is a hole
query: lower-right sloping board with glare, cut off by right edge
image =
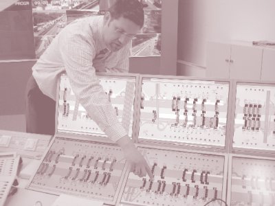
{"type": "Polygon", "coordinates": [[[231,205],[275,205],[275,160],[232,157],[231,205]]]}

